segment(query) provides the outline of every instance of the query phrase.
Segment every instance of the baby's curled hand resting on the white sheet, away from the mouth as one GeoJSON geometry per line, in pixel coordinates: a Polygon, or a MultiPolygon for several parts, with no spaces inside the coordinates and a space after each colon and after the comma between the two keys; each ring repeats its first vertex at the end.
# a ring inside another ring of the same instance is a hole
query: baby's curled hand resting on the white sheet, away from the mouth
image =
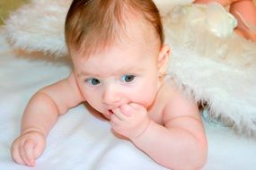
{"type": "Polygon", "coordinates": [[[31,131],[22,134],[13,141],[12,157],[15,162],[27,166],[35,166],[35,159],[40,157],[46,144],[43,133],[31,131]]]}

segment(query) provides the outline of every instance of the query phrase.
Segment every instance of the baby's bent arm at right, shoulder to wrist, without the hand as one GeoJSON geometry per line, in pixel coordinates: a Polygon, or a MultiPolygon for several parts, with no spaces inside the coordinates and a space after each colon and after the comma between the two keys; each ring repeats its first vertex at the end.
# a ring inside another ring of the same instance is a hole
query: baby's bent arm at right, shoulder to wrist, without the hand
{"type": "Polygon", "coordinates": [[[206,162],[207,139],[198,106],[178,93],[172,98],[164,108],[164,126],[150,121],[145,132],[130,140],[163,166],[199,169],[206,162]]]}

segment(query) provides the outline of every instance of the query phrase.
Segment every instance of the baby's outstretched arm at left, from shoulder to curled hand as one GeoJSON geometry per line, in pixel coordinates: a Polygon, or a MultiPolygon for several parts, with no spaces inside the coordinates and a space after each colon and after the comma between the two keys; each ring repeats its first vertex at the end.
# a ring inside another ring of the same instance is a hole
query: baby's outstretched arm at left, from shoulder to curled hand
{"type": "Polygon", "coordinates": [[[30,100],[22,116],[21,136],[13,141],[12,157],[19,164],[35,166],[40,157],[52,126],[58,115],[84,101],[75,75],[40,89],[30,100]]]}

